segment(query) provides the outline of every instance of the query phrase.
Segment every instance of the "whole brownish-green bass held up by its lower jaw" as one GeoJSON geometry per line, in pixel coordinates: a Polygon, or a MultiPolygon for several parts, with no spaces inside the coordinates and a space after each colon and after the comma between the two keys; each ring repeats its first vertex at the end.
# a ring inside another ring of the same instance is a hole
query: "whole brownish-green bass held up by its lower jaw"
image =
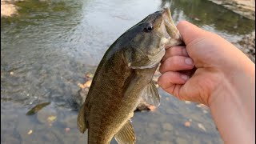
{"type": "Polygon", "coordinates": [[[150,14],[122,34],[99,63],[78,114],[78,129],[88,129],[89,144],[134,143],[130,118],[139,99],[159,106],[152,77],[165,46],[182,44],[169,9],[150,14]]]}

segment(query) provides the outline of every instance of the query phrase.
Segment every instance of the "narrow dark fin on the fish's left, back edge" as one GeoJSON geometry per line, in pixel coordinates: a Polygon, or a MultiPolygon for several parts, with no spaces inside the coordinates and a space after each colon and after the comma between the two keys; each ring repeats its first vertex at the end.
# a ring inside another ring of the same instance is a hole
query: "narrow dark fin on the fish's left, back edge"
{"type": "Polygon", "coordinates": [[[78,114],[78,129],[80,130],[81,133],[84,133],[87,129],[86,126],[86,107],[85,107],[85,103],[82,105],[81,109],[79,110],[79,114],[78,114]]]}

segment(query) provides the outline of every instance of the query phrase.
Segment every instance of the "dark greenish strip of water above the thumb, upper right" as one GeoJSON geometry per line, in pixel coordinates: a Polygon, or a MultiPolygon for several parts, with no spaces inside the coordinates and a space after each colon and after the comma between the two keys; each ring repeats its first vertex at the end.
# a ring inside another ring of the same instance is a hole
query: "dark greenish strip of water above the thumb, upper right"
{"type": "Polygon", "coordinates": [[[182,17],[198,26],[214,26],[215,30],[227,34],[248,34],[255,27],[254,21],[205,0],[162,0],[163,6],[170,6],[174,21],[182,17]]]}

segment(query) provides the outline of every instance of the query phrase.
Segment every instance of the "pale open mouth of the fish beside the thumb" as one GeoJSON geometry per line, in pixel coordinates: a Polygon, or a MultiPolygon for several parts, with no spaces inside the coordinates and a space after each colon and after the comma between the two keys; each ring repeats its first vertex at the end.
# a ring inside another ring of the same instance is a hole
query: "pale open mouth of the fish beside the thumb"
{"type": "Polygon", "coordinates": [[[162,10],[162,19],[164,24],[164,27],[162,26],[162,29],[165,29],[163,30],[165,31],[165,34],[164,38],[162,38],[161,45],[164,44],[166,48],[169,48],[171,46],[178,46],[183,44],[182,35],[179,33],[173,19],[171,18],[169,8],[164,8],[162,10]]]}

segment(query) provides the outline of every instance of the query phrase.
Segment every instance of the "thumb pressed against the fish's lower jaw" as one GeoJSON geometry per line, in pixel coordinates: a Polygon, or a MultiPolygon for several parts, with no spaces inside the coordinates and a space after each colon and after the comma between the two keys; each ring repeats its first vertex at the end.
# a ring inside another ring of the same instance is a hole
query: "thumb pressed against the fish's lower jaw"
{"type": "Polygon", "coordinates": [[[202,37],[206,31],[198,28],[190,22],[181,21],[178,22],[177,28],[182,35],[182,39],[186,45],[194,41],[197,38],[202,37]]]}

